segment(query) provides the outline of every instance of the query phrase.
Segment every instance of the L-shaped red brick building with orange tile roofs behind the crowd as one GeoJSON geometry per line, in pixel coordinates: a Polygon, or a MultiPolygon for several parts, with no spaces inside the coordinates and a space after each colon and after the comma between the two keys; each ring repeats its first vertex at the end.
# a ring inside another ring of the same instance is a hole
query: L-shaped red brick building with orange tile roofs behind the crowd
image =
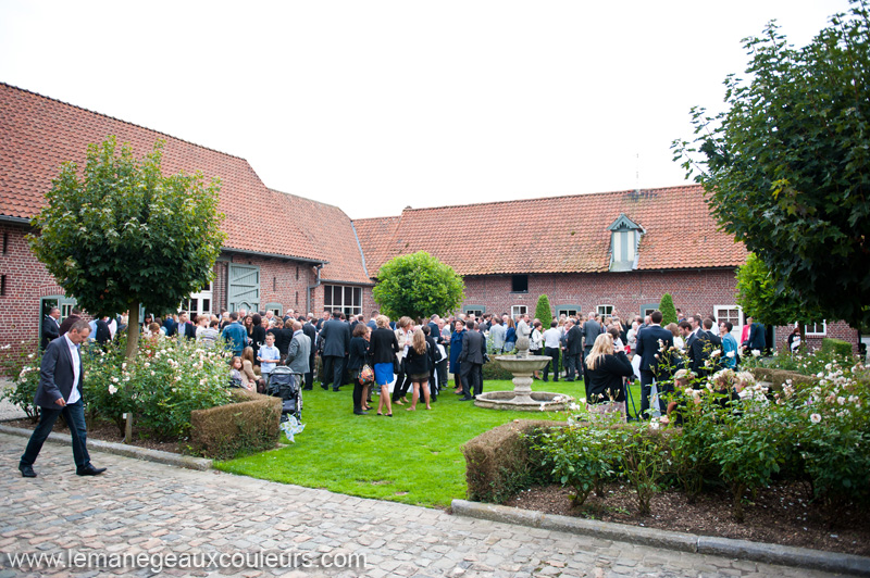
{"type": "MultiPolygon", "coordinates": [[[[746,251],[717,230],[698,186],[406,209],[401,215],[351,221],[339,208],[268,188],[244,159],[194,144],[0,84],[0,344],[38,337],[51,306],[65,316],[74,300],[30,253],[25,235],[60,165],[84,166],[88,143],[110,135],[134,154],[165,142],[166,173],[201,171],[222,180],[225,246],[214,281],[183,309],[320,312],[368,315],[374,277],[395,255],[424,250],[465,280],[463,311],[533,312],[547,294],[559,313],[658,306],[670,292],[686,313],[735,325],[734,271],[746,251]]],[[[181,296],[179,296],[181,297],[181,296]]],[[[857,343],[845,324],[811,328],[857,343]]],[[[787,335],[776,328],[775,342],[787,335]]]]}

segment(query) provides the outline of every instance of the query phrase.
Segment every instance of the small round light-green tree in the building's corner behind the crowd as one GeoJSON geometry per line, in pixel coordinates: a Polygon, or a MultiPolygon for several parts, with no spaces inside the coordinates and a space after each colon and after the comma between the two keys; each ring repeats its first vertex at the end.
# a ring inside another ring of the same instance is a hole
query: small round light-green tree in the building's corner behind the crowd
{"type": "Polygon", "coordinates": [[[372,294],[389,317],[420,319],[456,310],[465,299],[464,290],[462,277],[451,266],[419,251],[384,263],[372,294]]]}

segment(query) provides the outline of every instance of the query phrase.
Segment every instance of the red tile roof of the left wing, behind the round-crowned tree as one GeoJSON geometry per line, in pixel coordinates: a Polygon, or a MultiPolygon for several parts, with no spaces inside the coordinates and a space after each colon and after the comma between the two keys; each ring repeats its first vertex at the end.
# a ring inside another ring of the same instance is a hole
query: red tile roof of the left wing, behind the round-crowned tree
{"type": "MultiPolygon", "coordinates": [[[[165,174],[201,171],[207,180],[221,178],[225,248],[328,261],[326,247],[312,243],[298,226],[299,215],[288,211],[285,194],[266,188],[244,159],[1,83],[0,118],[2,216],[36,215],[63,162],[84,168],[88,143],[115,135],[119,144],[128,142],[140,158],[164,140],[165,174]]],[[[360,277],[359,272],[353,276],[360,277]]]]}

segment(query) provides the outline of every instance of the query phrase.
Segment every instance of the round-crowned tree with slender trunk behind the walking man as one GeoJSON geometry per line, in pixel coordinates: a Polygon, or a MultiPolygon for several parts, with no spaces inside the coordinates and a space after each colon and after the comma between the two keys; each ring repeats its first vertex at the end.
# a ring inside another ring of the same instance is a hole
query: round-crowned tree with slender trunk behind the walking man
{"type": "Polygon", "coordinates": [[[163,143],[141,161],[115,137],[89,144],[79,180],[64,163],[34,217],[30,249],[67,296],[92,315],[129,311],[127,356],[138,350],[139,305],[175,310],[212,280],[225,235],[220,180],[161,173],[163,143]]]}

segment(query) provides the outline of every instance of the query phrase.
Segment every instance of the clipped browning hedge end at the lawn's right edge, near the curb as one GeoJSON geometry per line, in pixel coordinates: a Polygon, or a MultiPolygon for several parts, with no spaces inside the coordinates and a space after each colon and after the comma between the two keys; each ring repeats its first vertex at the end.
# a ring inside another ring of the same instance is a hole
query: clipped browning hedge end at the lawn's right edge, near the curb
{"type": "Polygon", "coordinates": [[[517,419],[484,431],[462,445],[469,500],[502,503],[540,479],[540,458],[532,449],[536,431],[559,422],[517,419]]]}

